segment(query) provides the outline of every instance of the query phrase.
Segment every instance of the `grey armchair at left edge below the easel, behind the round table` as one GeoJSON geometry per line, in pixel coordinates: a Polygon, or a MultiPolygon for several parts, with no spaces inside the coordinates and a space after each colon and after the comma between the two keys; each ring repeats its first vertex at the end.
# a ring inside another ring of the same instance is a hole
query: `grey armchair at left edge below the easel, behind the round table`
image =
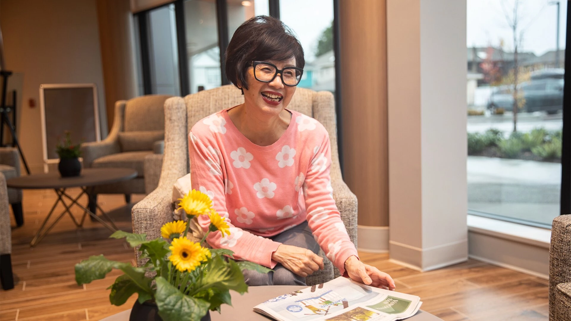
{"type": "MultiPolygon", "coordinates": [[[[6,179],[20,176],[20,153],[15,147],[0,148],[0,171],[6,179]]],[[[22,226],[24,215],[22,211],[22,190],[8,188],[8,202],[12,206],[16,225],[22,226]]],[[[8,218],[10,222],[10,218],[8,218]]]]}

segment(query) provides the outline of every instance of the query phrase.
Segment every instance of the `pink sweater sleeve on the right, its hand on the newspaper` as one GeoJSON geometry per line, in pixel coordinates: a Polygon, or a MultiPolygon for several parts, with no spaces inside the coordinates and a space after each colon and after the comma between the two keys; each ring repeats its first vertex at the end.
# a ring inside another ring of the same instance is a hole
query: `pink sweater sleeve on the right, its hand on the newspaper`
{"type": "Polygon", "coordinates": [[[331,146],[329,135],[325,132],[323,141],[313,149],[313,158],[305,175],[307,222],[327,258],[339,268],[341,275],[345,275],[345,260],[351,255],[359,258],[359,255],[333,199],[330,169],[331,146]]]}

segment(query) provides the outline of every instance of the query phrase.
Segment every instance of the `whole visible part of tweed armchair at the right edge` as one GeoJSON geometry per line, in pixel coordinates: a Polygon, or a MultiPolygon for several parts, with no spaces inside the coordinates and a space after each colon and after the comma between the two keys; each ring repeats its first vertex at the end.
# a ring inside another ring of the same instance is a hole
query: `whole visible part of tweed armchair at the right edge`
{"type": "Polygon", "coordinates": [[[557,216],[551,229],[549,320],[571,321],[571,215],[557,216]]]}

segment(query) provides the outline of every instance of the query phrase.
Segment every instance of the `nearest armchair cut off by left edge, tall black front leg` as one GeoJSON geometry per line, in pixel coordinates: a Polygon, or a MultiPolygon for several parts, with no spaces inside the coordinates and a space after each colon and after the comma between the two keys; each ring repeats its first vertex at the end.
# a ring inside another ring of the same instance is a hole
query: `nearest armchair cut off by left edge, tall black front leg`
{"type": "Polygon", "coordinates": [[[12,231],[8,208],[8,189],[6,188],[6,177],[0,172],[0,281],[3,290],[14,288],[11,252],[12,231]]]}

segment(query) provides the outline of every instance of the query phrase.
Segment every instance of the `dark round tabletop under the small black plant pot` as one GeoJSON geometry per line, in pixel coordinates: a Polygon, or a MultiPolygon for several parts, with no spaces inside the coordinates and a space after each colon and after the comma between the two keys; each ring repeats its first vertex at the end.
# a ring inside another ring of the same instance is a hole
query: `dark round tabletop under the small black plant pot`
{"type": "Polygon", "coordinates": [[[59,172],[32,174],[8,179],[6,185],[24,189],[95,186],[132,179],[137,174],[137,171],[131,168],[83,168],[81,174],[75,177],[63,178],[59,172]]]}

